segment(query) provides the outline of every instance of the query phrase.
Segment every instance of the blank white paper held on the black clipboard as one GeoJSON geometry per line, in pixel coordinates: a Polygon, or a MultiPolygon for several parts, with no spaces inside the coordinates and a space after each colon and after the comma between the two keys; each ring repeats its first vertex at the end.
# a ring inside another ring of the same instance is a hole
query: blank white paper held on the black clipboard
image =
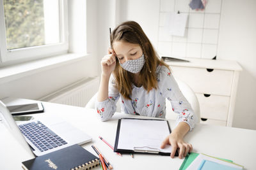
{"type": "Polygon", "coordinates": [[[160,148],[168,135],[170,131],[165,120],[122,119],[117,148],[125,150],[145,148],[145,150],[170,153],[172,152],[170,145],[164,149],[160,148]]]}

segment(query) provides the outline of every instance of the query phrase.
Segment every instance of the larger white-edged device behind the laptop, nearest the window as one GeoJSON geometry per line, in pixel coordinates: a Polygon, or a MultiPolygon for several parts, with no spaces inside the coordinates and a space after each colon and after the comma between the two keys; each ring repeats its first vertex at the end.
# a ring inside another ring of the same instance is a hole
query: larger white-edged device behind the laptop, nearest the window
{"type": "Polygon", "coordinates": [[[7,108],[12,115],[27,115],[44,112],[44,106],[40,102],[7,106],[7,108]]]}

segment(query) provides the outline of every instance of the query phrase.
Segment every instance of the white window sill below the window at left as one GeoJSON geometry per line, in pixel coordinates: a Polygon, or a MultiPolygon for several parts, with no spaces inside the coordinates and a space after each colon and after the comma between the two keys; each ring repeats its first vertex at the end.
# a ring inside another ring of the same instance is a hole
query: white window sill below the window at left
{"type": "Polygon", "coordinates": [[[90,57],[90,54],[67,53],[55,57],[49,57],[40,60],[33,60],[13,66],[0,68],[0,84],[8,81],[16,80],[24,76],[39,73],[55,67],[60,67],[65,64],[71,64],[79,60],[84,60],[90,57]]]}

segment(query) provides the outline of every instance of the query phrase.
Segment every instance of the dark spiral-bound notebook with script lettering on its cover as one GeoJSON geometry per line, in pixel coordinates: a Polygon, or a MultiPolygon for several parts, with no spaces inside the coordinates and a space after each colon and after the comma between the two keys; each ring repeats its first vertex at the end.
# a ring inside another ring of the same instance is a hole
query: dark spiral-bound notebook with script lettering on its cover
{"type": "Polygon", "coordinates": [[[22,162],[23,169],[91,169],[99,165],[99,158],[79,145],[68,146],[22,162]]]}

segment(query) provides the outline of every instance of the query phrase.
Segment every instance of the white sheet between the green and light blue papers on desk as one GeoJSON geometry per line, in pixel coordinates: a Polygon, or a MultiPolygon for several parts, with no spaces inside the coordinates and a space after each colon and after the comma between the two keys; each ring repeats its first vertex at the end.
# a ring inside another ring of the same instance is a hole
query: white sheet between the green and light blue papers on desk
{"type": "Polygon", "coordinates": [[[196,159],[188,166],[188,168],[186,170],[193,170],[193,169],[198,169],[198,167],[200,166],[201,162],[203,160],[210,160],[212,162],[218,162],[219,164],[223,164],[225,166],[230,166],[230,167],[236,167],[239,169],[243,169],[243,167],[241,166],[237,166],[236,164],[232,164],[230,162],[226,162],[220,159],[215,159],[212,157],[208,157],[207,155],[203,155],[203,154],[199,154],[196,159]]]}

